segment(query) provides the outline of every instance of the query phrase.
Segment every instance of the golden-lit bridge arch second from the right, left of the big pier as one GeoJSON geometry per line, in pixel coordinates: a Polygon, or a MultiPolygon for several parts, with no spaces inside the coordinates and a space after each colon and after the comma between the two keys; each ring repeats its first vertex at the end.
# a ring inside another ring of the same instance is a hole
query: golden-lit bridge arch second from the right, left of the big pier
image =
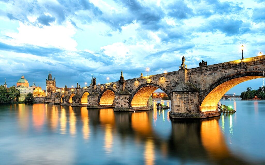
{"type": "Polygon", "coordinates": [[[170,99],[170,93],[163,87],[154,83],[141,84],[135,91],[131,94],[129,102],[131,107],[145,107],[147,106],[147,101],[154,91],[161,89],[164,91],[170,99]]]}

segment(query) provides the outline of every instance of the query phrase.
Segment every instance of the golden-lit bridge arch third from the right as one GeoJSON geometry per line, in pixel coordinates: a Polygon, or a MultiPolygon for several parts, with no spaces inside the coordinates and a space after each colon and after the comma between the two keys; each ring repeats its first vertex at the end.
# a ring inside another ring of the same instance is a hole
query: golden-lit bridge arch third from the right
{"type": "Polygon", "coordinates": [[[114,91],[112,88],[104,89],[98,97],[98,104],[112,105],[114,103],[115,93],[116,91],[114,91]]]}

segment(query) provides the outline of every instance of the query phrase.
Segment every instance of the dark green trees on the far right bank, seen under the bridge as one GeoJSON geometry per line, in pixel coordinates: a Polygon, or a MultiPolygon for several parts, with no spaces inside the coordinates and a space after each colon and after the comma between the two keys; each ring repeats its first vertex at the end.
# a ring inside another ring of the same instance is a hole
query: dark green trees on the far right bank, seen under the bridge
{"type": "Polygon", "coordinates": [[[240,97],[244,100],[249,100],[253,98],[265,99],[265,94],[262,92],[262,88],[259,87],[258,90],[251,90],[252,88],[247,87],[246,91],[242,92],[240,97]]]}

